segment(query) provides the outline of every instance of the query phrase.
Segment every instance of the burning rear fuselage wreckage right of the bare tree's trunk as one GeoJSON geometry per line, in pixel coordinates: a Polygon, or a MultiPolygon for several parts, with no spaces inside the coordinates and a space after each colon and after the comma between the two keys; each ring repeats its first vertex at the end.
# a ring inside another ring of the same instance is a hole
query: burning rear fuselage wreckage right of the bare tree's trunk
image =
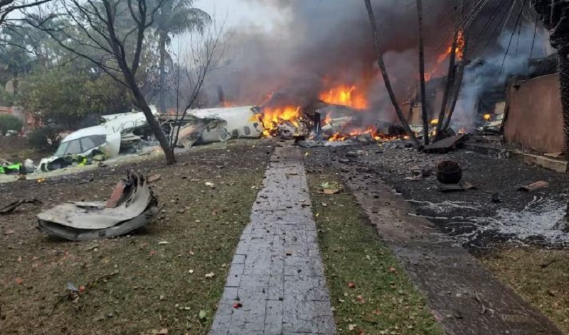
{"type": "MultiPolygon", "coordinates": [[[[232,138],[296,139],[306,145],[349,139],[371,142],[403,136],[392,123],[370,121],[371,114],[349,106],[318,101],[300,106],[242,106],[188,111],[181,121],[181,146],[225,142],[232,138]]],[[[169,120],[170,136],[176,121],[169,120]]]]}

